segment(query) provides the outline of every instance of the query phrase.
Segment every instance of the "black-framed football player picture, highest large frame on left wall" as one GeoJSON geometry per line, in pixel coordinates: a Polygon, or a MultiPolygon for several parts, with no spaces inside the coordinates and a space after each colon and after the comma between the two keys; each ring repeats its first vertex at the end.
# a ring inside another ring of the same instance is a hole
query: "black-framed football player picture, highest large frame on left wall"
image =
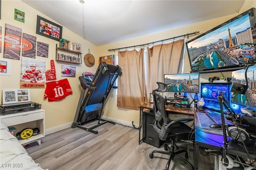
{"type": "Polygon", "coordinates": [[[36,34],[44,37],[60,41],[62,38],[62,26],[37,16],[36,20],[36,34]]]}

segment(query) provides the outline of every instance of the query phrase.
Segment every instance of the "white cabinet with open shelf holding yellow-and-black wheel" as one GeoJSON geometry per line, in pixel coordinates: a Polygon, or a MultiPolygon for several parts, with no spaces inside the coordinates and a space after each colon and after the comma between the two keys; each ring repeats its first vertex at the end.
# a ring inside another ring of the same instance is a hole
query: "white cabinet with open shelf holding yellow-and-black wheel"
{"type": "Polygon", "coordinates": [[[44,137],[44,110],[38,109],[34,111],[26,111],[22,113],[14,113],[10,115],[1,115],[0,116],[4,123],[8,127],[15,127],[17,130],[16,133],[22,131],[25,128],[39,128],[40,134],[32,136],[28,139],[18,140],[21,145],[26,145],[32,142],[38,142],[38,145],[41,145],[41,138],[44,137]]]}

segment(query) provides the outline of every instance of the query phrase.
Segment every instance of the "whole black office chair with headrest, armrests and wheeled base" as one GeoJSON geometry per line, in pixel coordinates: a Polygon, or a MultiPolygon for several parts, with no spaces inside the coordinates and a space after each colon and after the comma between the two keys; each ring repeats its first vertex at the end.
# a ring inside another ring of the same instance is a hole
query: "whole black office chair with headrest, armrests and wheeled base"
{"type": "Polygon", "coordinates": [[[192,117],[180,117],[174,120],[170,120],[168,118],[168,114],[166,113],[165,109],[165,99],[162,95],[157,92],[165,92],[167,89],[167,85],[162,82],[156,82],[158,84],[158,88],[152,91],[153,100],[154,100],[154,115],[155,120],[153,122],[153,127],[156,132],[159,134],[159,138],[162,141],[167,141],[169,139],[171,141],[171,146],[168,147],[167,144],[164,144],[164,150],[154,150],[149,154],[150,158],[153,158],[154,153],[162,153],[170,155],[170,158],[166,164],[166,170],[169,169],[171,160],[174,159],[174,156],[178,156],[184,160],[191,168],[194,170],[194,167],[190,162],[185,160],[184,158],[180,157],[178,154],[185,152],[185,157],[188,158],[188,151],[180,150],[174,144],[174,140],[188,140],[189,134],[192,132],[192,129],[188,127],[186,122],[192,121],[192,117]],[[176,150],[174,150],[174,145],[176,146],[176,150]]]}

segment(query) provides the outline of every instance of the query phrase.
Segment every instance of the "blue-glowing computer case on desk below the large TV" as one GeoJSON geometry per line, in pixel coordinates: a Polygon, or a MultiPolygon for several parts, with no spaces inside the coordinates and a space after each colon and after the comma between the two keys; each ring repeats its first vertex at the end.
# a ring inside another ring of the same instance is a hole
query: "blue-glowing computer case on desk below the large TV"
{"type": "MultiPolygon", "coordinates": [[[[230,99],[230,86],[231,83],[201,83],[201,98],[204,98],[204,108],[220,112],[220,103],[218,96],[220,92],[223,93],[225,99],[230,99]]],[[[223,106],[223,110],[226,111],[223,106]]]]}

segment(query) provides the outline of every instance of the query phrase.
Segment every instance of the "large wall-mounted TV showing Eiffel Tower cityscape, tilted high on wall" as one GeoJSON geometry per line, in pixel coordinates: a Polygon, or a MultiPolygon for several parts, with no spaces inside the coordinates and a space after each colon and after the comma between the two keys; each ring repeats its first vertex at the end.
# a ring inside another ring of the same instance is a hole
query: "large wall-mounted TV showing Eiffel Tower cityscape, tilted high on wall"
{"type": "Polygon", "coordinates": [[[186,42],[191,72],[224,72],[241,69],[255,59],[256,8],[186,42]]]}

